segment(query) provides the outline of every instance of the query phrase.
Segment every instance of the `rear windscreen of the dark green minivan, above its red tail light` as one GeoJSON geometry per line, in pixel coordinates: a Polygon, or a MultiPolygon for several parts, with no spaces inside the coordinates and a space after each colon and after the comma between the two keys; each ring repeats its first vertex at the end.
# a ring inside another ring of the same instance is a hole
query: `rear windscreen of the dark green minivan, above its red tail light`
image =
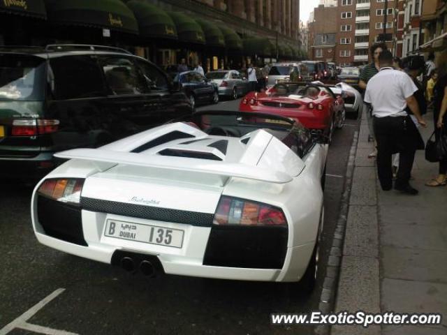
{"type": "Polygon", "coordinates": [[[43,101],[45,59],[0,54],[0,101],[43,101]]]}

